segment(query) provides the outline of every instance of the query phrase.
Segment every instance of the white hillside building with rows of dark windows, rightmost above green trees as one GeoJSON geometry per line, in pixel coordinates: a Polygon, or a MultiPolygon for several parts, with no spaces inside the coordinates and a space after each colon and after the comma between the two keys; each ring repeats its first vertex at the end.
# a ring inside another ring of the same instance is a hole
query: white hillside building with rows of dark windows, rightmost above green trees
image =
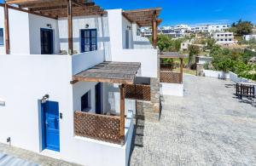
{"type": "Polygon", "coordinates": [[[216,43],[229,45],[235,43],[233,32],[216,32],[213,34],[216,43]]]}

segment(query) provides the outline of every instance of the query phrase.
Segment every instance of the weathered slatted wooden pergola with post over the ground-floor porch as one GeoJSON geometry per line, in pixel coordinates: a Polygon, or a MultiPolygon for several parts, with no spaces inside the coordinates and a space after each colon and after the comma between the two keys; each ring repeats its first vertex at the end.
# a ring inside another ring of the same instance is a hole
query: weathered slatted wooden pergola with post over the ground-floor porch
{"type": "Polygon", "coordinates": [[[119,83],[120,89],[120,135],[125,135],[125,85],[135,83],[141,63],[105,61],[73,76],[73,83],[101,82],[119,83]]]}

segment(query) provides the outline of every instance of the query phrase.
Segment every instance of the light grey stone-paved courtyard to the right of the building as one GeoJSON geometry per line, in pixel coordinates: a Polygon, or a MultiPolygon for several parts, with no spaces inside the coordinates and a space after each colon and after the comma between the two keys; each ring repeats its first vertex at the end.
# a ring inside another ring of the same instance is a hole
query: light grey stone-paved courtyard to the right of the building
{"type": "Polygon", "coordinates": [[[184,77],[185,95],[164,97],[160,123],[137,120],[131,165],[256,165],[256,106],[230,81],[184,77]]]}

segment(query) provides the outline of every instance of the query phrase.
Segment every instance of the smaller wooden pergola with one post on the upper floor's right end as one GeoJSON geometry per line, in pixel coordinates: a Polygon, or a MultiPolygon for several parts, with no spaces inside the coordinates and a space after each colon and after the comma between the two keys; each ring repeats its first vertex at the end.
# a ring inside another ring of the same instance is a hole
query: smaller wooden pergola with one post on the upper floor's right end
{"type": "Polygon", "coordinates": [[[156,49],[157,46],[157,26],[159,26],[162,21],[159,19],[160,11],[160,8],[123,11],[124,17],[131,23],[137,23],[137,25],[141,27],[152,26],[152,41],[154,49],[156,49]]]}

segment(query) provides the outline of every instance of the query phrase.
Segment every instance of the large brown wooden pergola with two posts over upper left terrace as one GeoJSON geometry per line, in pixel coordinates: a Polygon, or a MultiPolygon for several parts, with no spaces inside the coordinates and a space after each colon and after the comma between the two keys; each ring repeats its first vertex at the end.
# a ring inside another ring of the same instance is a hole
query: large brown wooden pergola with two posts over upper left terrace
{"type": "Polygon", "coordinates": [[[10,54],[9,9],[16,9],[55,20],[67,17],[68,54],[73,54],[73,16],[107,14],[96,3],[85,0],[5,0],[5,3],[0,5],[4,7],[6,54],[10,54]],[[12,4],[15,4],[15,6],[12,4]]]}

